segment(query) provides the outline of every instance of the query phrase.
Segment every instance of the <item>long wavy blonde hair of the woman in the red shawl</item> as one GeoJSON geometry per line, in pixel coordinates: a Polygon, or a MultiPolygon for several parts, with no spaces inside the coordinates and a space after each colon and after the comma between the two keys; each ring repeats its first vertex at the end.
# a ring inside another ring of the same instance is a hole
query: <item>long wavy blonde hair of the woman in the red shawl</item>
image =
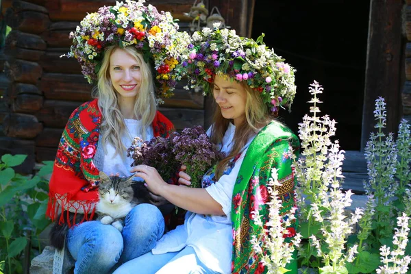
{"type": "MultiPolygon", "coordinates": [[[[123,155],[127,148],[121,141],[123,132],[128,130],[124,123],[123,114],[121,114],[118,93],[114,90],[110,79],[110,56],[118,46],[111,46],[105,49],[103,61],[98,73],[97,86],[93,90],[93,97],[99,99],[99,108],[101,111],[101,135],[103,144],[109,142],[116,149],[116,153],[123,155]]],[[[141,85],[138,96],[134,104],[134,113],[140,119],[140,132],[143,140],[147,138],[146,127],[153,122],[157,110],[157,102],[154,95],[153,74],[149,64],[144,61],[142,54],[135,47],[125,47],[123,50],[134,56],[140,64],[141,85]]],[[[130,136],[132,137],[132,136],[130,136]]],[[[103,145],[105,152],[105,145],[103,145]]]]}

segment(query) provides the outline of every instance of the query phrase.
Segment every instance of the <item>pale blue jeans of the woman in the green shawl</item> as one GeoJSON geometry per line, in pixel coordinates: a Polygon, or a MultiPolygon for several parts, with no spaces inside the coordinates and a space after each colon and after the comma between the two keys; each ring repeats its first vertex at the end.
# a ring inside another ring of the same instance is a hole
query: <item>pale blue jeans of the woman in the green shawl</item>
{"type": "Polygon", "coordinates": [[[121,265],[113,274],[214,274],[199,260],[192,247],[159,255],[145,253],[121,265]]]}

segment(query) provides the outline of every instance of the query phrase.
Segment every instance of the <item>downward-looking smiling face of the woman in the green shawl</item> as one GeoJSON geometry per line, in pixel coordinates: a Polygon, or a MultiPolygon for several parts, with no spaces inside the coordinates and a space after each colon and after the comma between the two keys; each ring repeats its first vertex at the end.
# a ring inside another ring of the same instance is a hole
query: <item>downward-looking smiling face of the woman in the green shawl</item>
{"type": "Polygon", "coordinates": [[[225,119],[233,119],[234,125],[245,121],[247,91],[245,87],[228,77],[214,77],[213,95],[225,119]]]}

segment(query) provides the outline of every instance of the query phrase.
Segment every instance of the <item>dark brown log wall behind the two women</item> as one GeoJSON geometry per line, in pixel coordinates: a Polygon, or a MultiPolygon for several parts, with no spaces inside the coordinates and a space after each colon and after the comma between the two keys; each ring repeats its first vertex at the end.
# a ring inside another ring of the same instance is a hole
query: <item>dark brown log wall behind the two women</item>
{"type": "MultiPolygon", "coordinates": [[[[203,2],[208,5],[208,0],[203,2]]],[[[192,0],[149,3],[171,12],[179,19],[180,29],[188,31],[192,18],[184,13],[190,11],[192,0]]],[[[19,171],[29,173],[35,162],[53,160],[71,112],[91,99],[92,86],[84,79],[77,61],[60,55],[69,51],[69,33],[87,12],[113,4],[112,0],[3,0],[3,10],[7,8],[5,21],[12,32],[4,48],[8,86],[0,101],[4,132],[0,136],[0,155],[29,154],[19,171]]],[[[160,105],[160,111],[177,129],[203,125],[205,120],[203,96],[184,90],[186,84],[179,83],[175,96],[160,105]]]]}

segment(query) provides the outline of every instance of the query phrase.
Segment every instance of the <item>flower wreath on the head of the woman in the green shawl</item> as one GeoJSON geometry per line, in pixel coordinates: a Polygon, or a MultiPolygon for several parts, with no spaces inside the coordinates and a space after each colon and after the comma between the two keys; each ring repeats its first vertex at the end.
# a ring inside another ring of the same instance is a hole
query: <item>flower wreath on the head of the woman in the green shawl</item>
{"type": "Polygon", "coordinates": [[[219,23],[213,27],[192,34],[187,64],[191,88],[201,86],[205,94],[211,94],[214,75],[228,75],[260,92],[273,114],[278,114],[279,107],[290,110],[296,92],[295,69],[264,45],[264,34],[256,42],[236,35],[235,30],[219,29],[219,23]]]}

